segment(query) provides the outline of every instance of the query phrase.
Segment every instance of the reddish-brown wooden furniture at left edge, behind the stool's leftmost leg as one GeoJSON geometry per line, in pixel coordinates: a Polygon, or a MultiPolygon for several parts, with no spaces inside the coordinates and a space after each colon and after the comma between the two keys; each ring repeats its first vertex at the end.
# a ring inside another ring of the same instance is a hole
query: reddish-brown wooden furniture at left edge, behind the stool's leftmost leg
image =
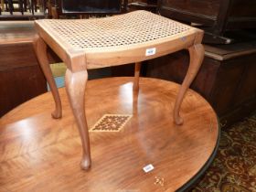
{"type": "Polygon", "coordinates": [[[0,116],[47,91],[32,45],[35,35],[33,22],[1,22],[0,116]]]}

